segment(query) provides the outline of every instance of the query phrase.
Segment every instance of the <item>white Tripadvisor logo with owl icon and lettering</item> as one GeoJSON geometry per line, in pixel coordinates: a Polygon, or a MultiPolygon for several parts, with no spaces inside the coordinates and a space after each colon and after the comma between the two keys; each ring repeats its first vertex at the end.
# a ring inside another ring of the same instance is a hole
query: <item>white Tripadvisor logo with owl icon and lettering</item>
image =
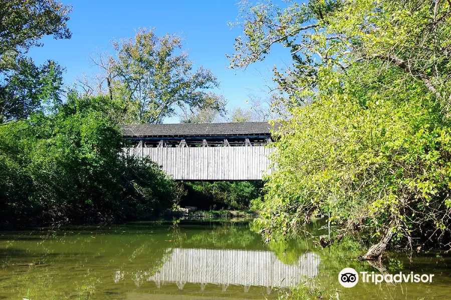
{"type": "MultiPolygon", "coordinates": [[[[414,274],[399,272],[397,274],[377,274],[374,272],[360,272],[362,282],[371,282],[374,284],[378,284],[381,282],[432,282],[432,277],[434,274],[414,274]]],[[[344,287],[353,287],[359,282],[359,274],[352,267],[345,267],[338,273],[338,281],[344,287]]]]}

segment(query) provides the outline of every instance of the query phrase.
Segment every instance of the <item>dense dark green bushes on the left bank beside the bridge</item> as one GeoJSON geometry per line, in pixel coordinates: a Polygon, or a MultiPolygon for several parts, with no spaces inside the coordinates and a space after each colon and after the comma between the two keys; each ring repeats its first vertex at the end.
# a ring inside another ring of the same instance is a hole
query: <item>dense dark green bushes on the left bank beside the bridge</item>
{"type": "Polygon", "coordinates": [[[155,163],[120,154],[103,100],[71,93],[54,113],[0,127],[3,220],[111,221],[172,206],[175,182],[155,163]]]}

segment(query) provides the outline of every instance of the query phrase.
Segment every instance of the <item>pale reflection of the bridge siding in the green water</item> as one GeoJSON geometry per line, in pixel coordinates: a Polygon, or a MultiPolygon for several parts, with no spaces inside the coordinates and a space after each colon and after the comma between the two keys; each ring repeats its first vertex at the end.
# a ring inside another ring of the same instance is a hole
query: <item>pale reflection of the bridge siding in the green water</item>
{"type": "Polygon", "coordinates": [[[271,251],[237,249],[174,248],[170,258],[147,281],[159,288],[164,282],[175,282],[183,289],[186,282],[222,286],[290,287],[318,273],[320,258],[313,252],[304,253],[295,264],[285,264],[271,251]]]}

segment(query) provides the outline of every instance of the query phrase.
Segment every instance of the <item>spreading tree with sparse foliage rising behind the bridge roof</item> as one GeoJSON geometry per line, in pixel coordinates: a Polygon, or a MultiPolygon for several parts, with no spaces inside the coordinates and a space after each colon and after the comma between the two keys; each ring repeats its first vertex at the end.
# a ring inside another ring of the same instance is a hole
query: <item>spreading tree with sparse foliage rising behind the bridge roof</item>
{"type": "Polygon", "coordinates": [[[216,77],[202,66],[193,70],[179,36],[140,28],[134,38],[114,40],[113,48],[116,57],[93,59],[103,76],[81,84],[85,91],[102,91],[106,82],[109,97],[122,102],[120,122],[159,123],[180,110],[223,110],[223,98],[208,91],[218,87],[216,77]]]}

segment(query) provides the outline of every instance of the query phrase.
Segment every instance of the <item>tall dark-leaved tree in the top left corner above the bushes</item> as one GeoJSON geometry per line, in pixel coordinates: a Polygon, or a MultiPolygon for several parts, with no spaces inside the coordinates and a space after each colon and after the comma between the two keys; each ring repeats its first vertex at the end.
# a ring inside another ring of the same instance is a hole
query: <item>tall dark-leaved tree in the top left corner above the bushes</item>
{"type": "Polygon", "coordinates": [[[40,106],[41,95],[55,98],[62,68],[49,61],[35,66],[25,53],[41,46],[44,35],[70,38],[71,12],[54,0],[4,1],[0,5],[0,124],[25,118],[40,106]]]}

